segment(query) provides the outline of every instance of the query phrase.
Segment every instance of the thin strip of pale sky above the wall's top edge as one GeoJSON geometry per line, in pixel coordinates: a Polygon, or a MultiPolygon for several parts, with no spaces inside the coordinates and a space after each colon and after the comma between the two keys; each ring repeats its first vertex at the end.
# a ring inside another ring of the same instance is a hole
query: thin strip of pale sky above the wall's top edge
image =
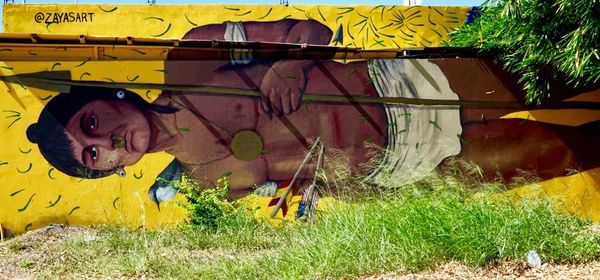
{"type": "MultiPolygon", "coordinates": [[[[277,5],[280,0],[156,0],[157,4],[271,4],[277,5]]],[[[417,0],[418,1],[418,0],[417,0]]],[[[477,6],[484,0],[420,0],[421,5],[429,6],[477,6]]],[[[14,0],[23,3],[23,0],[14,0]]],[[[74,4],[75,0],[25,0],[27,4],[74,4]]],[[[146,0],[78,0],[79,4],[145,4],[146,0]]],[[[405,0],[288,0],[289,4],[320,4],[320,5],[400,5],[405,0]]],[[[4,1],[0,2],[0,7],[4,1]]],[[[2,13],[0,13],[0,22],[2,13]]],[[[0,25],[2,31],[2,25],[0,25]]]]}

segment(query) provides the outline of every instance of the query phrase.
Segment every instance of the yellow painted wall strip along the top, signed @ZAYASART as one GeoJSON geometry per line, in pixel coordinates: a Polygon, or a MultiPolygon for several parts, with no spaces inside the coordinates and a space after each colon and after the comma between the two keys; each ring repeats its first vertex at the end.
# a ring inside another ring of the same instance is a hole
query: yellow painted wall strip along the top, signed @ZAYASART
{"type": "Polygon", "coordinates": [[[344,38],[344,45],[417,47],[440,45],[448,38],[449,31],[463,24],[469,9],[314,5],[5,5],[4,30],[179,39],[195,26],[290,18],[314,19],[334,31],[341,25],[345,33],[350,34],[344,38]],[[88,16],[88,22],[46,23],[52,22],[55,14],[69,12],[92,13],[92,22],[88,16]],[[36,16],[43,20],[36,22],[36,16]]]}

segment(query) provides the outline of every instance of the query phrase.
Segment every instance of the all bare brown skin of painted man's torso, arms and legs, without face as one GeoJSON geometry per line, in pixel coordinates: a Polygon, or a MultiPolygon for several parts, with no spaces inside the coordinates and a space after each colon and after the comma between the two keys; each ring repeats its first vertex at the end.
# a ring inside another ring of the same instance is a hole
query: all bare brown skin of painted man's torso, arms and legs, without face
{"type": "MultiPolygon", "coordinates": [[[[327,27],[310,20],[247,22],[244,27],[250,41],[326,45],[331,38],[327,27]]],[[[223,40],[224,31],[223,24],[201,26],[184,39],[223,40]]],[[[433,62],[461,100],[522,100],[514,78],[483,60],[433,62]]],[[[184,164],[193,178],[208,186],[231,172],[233,198],[266,180],[292,178],[307,147],[317,137],[326,146],[326,156],[341,151],[357,172],[367,172],[360,165],[372,158],[365,142],[386,147],[387,120],[381,105],[301,102],[305,93],[377,96],[366,62],[279,60],[232,66],[229,61],[178,60],[167,61],[166,69],[169,84],[223,86],[263,94],[255,98],[164,92],[157,103],[183,109],[173,115],[148,116],[153,131],[148,152],[166,150],[184,164]],[[255,131],[264,142],[265,152],[254,160],[237,159],[231,152],[232,136],[242,130],[255,131]]],[[[466,141],[459,156],[480,165],[488,178],[497,174],[510,178],[517,169],[551,178],[568,168],[585,166],[564,137],[573,135],[577,128],[557,129],[533,121],[499,119],[510,112],[461,110],[462,137],[466,141]]],[[[597,150],[591,145],[589,148],[597,150]]],[[[589,157],[588,161],[597,162],[589,157]]],[[[300,182],[311,178],[312,168],[301,174],[300,182]]]]}

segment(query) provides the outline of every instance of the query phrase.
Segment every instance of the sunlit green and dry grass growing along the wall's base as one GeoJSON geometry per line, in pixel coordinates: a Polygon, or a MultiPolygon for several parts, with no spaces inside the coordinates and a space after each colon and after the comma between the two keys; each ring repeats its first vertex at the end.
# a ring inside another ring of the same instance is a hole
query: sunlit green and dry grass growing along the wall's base
{"type": "MultiPolygon", "coordinates": [[[[497,187],[497,185],[495,185],[497,187]]],[[[457,260],[472,266],[523,261],[600,259],[591,224],[555,213],[543,201],[495,203],[449,178],[354,197],[313,225],[272,228],[242,211],[210,227],[131,231],[104,227],[95,241],[58,243],[39,276],[150,278],[341,278],[420,271],[457,260]]],[[[493,188],[492,188],[493,189],[493,188]]]]}

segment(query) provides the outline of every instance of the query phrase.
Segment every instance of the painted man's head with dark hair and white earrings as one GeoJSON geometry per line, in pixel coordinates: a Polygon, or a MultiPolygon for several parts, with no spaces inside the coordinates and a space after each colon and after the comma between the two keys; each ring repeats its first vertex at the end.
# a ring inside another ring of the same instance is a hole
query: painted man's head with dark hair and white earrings
{"type": "Polygon", "coordinates": [[[154,133],[150,111],[176,109],[147,103],[123,89],[73,87],[48,102],[27,137],[56,169],[100,178],[136,163],[148,151],[154,133]]]}

